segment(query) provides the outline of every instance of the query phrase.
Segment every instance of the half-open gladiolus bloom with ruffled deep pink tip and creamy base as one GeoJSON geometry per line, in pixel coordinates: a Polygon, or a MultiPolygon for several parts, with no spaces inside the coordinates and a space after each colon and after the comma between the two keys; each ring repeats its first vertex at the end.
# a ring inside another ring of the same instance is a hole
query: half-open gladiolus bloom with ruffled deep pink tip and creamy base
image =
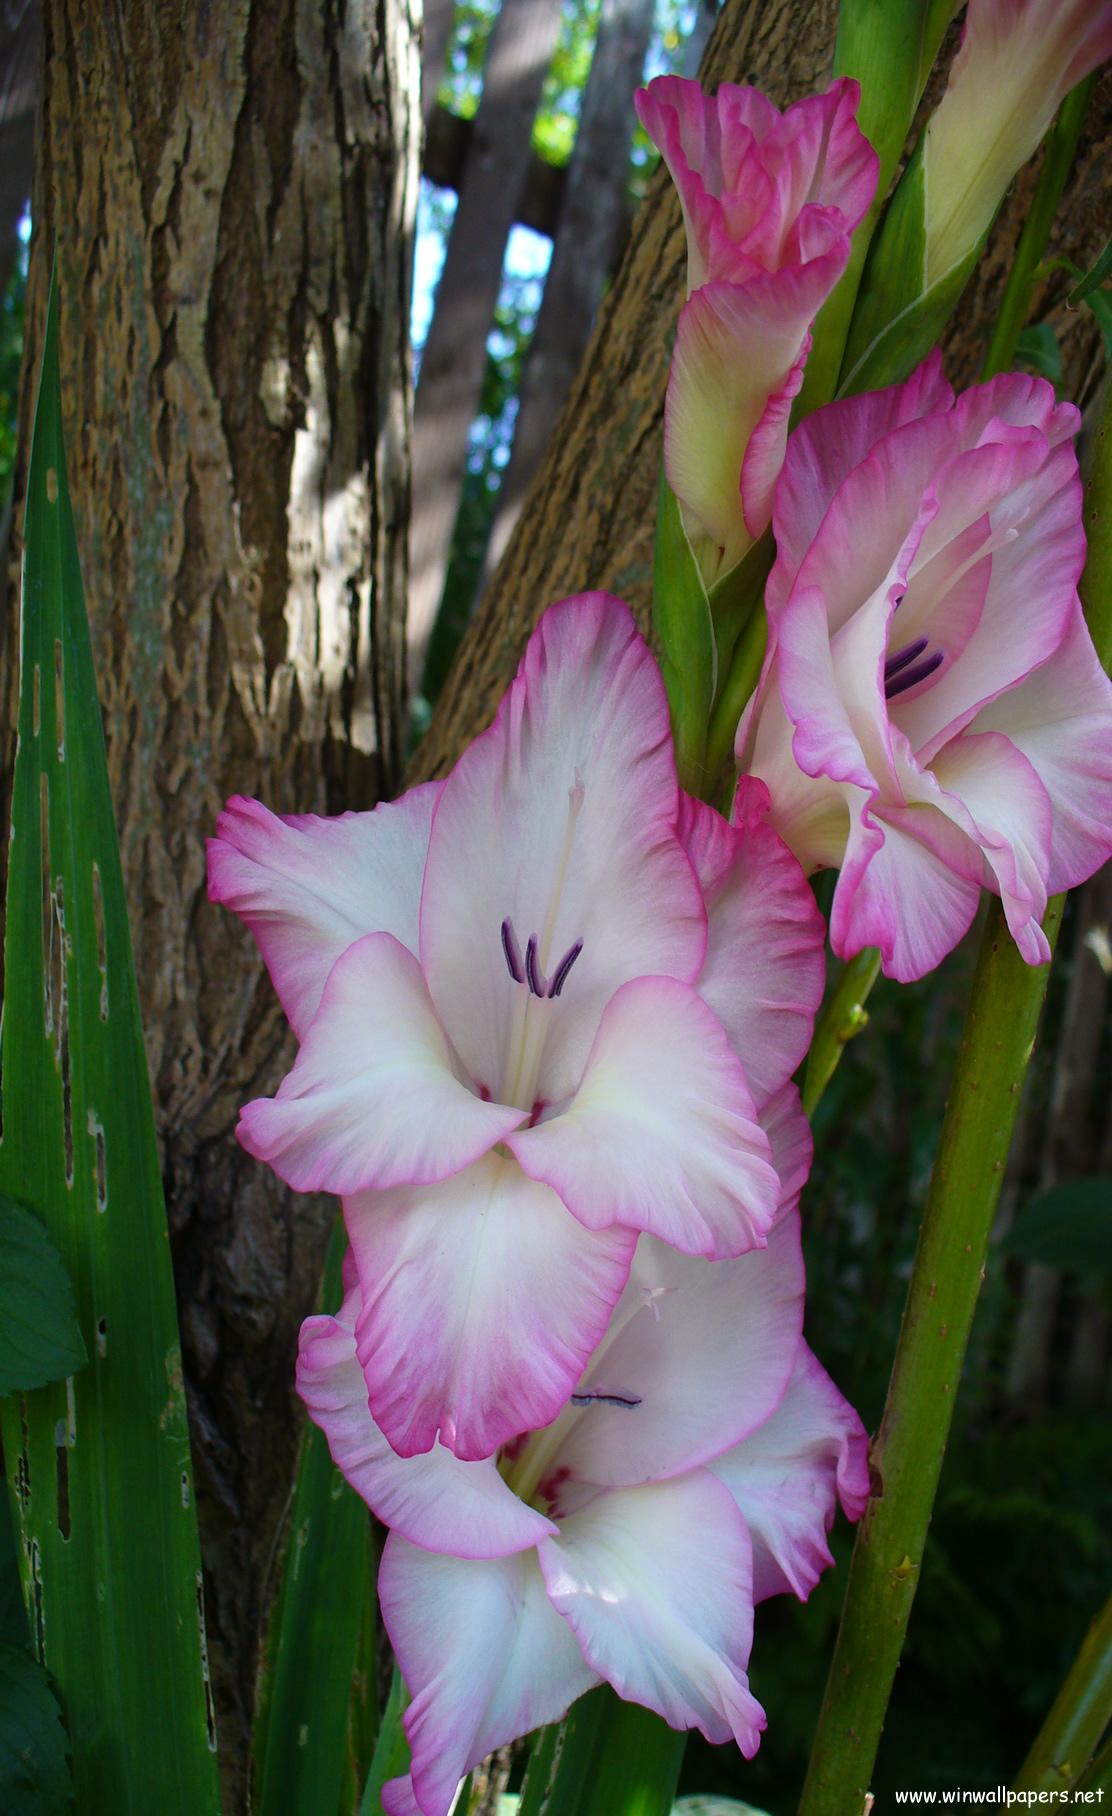
{"type": "Polygon", "coordinates": [[[858,98],[841,78],[779,113],[760,89],[709,96],[681,76],[636,96],[687,227],[665,472],[709,587],[769,527],[810,325],[876,191],[858,98]]]}

